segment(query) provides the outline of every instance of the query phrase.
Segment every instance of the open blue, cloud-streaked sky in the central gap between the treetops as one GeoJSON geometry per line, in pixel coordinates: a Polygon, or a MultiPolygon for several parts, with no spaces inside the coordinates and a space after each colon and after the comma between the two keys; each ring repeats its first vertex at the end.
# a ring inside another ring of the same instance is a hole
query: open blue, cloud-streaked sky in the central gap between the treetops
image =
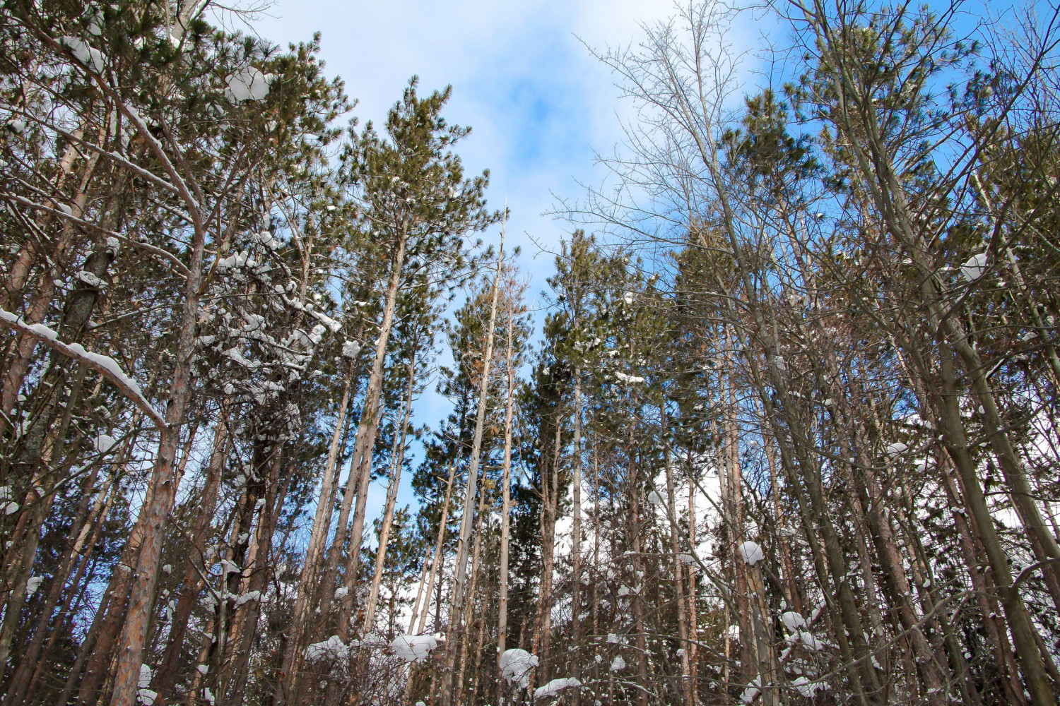
{"type": "MultiPolygon", "coordinates": [[[[556,197],[577,199],[580,184],[600,181],[595,155],[621,142],[633,109],[589,48],[635,43],[641,23],[673,10],[671,0],[277,0],[251,31],[281,44],[319,31],[324,73],[346,80],[361,124],[382,122],[412,75],[424,93],[452,85],[443,114],[473,128],[458,151],[469,173],[490,169],[491,206],[507,200],[506,250],[522,248],[519,267],[542,306],[551,253],[571,230],[547,212],[556,197]]],[[[483,239],[496,243],[498,235],[499,228],[483,239]]],[[[414,409],[414,423],[437,428],[449,405],[431,386],[414,409]]],[[[381,508],[385,496],[377,481],[369,508],[381,508]]],[[[406,473],[399,506],[414,503],[406,473]]]]}

